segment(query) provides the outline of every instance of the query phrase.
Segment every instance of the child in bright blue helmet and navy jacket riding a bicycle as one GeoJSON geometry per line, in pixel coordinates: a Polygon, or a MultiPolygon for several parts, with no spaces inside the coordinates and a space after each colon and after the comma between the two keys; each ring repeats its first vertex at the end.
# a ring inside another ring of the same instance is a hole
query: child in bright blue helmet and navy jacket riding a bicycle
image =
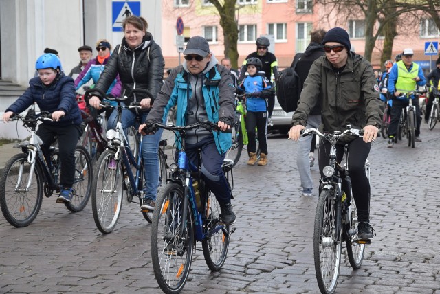
{"type": "Polygon", "coordinates": [[[43,154],[50,165],[50,146],[58,139],[61,160],[60,196],[57,203],[72,200],[75,179],[75,147],[81,135],[80,109],[76,103],[74,80],[61,70],[61,61],[55,54],[43,54],[36,60],[38,77],[29,80],[29,88],[3,114],[8,122],[14,113],[22,113],[38,104],[41,111],[52,113],[53,122],[44,121],[36,131],[43,140],[43,154]]]}

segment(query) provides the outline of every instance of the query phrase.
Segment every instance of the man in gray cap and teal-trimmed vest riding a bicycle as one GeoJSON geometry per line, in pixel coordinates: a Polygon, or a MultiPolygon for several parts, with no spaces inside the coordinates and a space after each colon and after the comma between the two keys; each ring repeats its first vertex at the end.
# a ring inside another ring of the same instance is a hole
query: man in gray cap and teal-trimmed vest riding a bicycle
{"type": "MultiPolygon", "coordinates": [[[[155,122],[162,122],[164,113],[177,105],[176,125],[187,126],[200,121],[214,122],[222,131],[234,126],[235,87],[230,70],[218,65],[210,52],[208,41],[201,36],[190,38],[184,51],[185,61],[175,67],[160,90],[153,109],[140,126],[140,131],[155,122]]],[[[221,169],[225,153],[232,146],[230,133],[209,132],[196,128],[186,133],[186,152],[197,165],[201,150],[201,172],[208,188],[215,194],[226,225],[235,222],[231,191],[221,169]],[[206,158],[208,160],[204,160],[206,158]]],[[[177,140],[177,148],[180,148],[177,140]]]]}

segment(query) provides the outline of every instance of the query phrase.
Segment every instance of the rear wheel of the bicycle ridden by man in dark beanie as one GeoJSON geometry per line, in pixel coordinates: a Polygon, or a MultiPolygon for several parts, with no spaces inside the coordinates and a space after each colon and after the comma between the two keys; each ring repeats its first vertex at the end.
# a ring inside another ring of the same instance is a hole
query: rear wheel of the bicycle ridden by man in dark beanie
{"type": "MultiPolygon", "coordinates": [[[[350,225],[349,229],[352,231],[357,231],[358,229],[358,207],[354,199],[351,201],[349,206],[349,218],[350,225]]],[[[349,234],[346,234],[347,242],[347,256],[349,257],[349,262],[353,269],[360,269],[362,261],[364,260],[365,245],[353,242],[354,238],[351,238],[349,234]]]]}

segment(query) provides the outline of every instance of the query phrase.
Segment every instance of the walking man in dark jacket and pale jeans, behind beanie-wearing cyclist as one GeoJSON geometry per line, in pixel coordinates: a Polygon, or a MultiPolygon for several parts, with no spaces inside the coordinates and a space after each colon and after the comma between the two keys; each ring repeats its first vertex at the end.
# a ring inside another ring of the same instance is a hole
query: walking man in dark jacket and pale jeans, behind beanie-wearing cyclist
{"type": "MultiPolygon", "coordinates": [[[[325,36],[325,30],[316,30],[310,33],[310,44],[305,49],[303,54],[296,54],[294,62],[291,67],[294,66],[296,58],[300,58],[296,65],[296,73],[300,76],[300,82],[302,87],[304,81],[309,74],[310,67],[312,63],[320,56],[325,55],[324,49],[322,49],[322,39],[325,36]]],[[[322,95],[320,95],[320,100],[322,95]]],[[[319,103],[316,104],[314,109],[311,110],[309,117],[307,118],[306,128],[318,128],[321,124],[321,106],[319,103]]],[[[311,196],[311,191],[313,188],[313,180],[311,179],[310,173],[310,158],[313,155],[309,155],[310,145],[313,136],[306,136],[300,138],[300,145],[298,146],[298,152],[296,153],[296,166],[298,167],[298,172],[300,173],[301,187],[303,187],[303,196],[311,196]]],[[[313,162],[313,161],[312,161],[313,162]]]]}

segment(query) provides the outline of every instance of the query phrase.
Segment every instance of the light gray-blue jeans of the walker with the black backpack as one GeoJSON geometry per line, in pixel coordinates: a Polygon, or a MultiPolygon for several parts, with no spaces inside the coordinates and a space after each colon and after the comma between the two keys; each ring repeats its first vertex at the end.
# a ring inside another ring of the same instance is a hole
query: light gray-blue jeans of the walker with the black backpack
{"type": "MultiPolygon", "coordinates": [[[[321,115],[309,115],[305,128],[318,128],[321,124],[321,115]]],[[[311,179],[309,152],[313,136],[300,137],[298,152],[296,153],[296,166],[300,172],[301,186],[303,188],[313,188],[314,181],[311,179]]]]}

